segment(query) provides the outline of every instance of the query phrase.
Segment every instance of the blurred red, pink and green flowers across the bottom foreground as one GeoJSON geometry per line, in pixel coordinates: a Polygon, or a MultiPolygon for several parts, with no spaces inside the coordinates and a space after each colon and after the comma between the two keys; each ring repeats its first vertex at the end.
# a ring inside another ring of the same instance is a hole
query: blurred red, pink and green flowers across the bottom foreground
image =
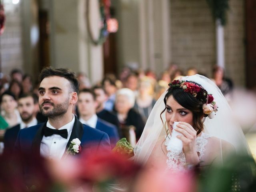
{"type": "MultiPolygon", "coordinates": [[[[129,146],[91,150],[60,161],[31,154],[0,156],[1,192],[232,192],[256,191],[255,161],[232,156],[222,166],[186,172],[155,170],[131,160],[129,146]]],[[[163,165],[164,166],[164,165],[163,165]]]]}

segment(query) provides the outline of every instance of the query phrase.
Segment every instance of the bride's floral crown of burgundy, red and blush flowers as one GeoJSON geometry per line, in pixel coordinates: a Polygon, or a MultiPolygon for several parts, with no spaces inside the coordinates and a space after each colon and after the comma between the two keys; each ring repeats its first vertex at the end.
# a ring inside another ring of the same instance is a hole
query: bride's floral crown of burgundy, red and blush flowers
{"type": "Polygon", "coordinates": [[[168,84],[169,89],[181,88],[184,92],[187,92],[194,96],[197,100],[203,102],[203,112],[210,119],[214,118],[215,113],[218,111],[218,106],[214,100],[212,94],[208,92],[200,85],[190,81],[174,80],[168,84]]]}

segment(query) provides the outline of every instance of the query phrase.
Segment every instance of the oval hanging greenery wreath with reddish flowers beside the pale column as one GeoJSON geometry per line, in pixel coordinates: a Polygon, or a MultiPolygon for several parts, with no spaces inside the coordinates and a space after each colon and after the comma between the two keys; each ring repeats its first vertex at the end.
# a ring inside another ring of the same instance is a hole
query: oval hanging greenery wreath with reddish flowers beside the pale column
{"type": "Polygon", "coordinates": [[[101,45],[106,41],[106,37],[108,36],[107,31],[107,16],[105,14],[105,3],[103,0],[99,0],[100,4],[100,20],[102,22],[102,27],[100,28],[100,34],[98,36],[98,39],[94,39],[92,35],[91,30],[91,23],[89,18],[89,6],[90,6],[90,0],[86,0],[86,23],[87,23],[87,30],[89,33],[90,40],[94,45],[101,45]]]}

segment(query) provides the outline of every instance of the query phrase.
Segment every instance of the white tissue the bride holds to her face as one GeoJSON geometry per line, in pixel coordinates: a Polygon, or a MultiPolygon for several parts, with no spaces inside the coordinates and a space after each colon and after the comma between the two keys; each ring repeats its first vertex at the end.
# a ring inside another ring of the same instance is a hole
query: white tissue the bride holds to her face
{"type": "Polygon", "coordinates": [[[167,150],[172,151],[177,155],[182,152],[182,148],[183,148],[182,140],[180,140],[176,137],[177,135],[182,135],[180,132],[175,130],[178,123],[179,122],[174,122],[174,124],[172,125],[172,127],[173,127],[172,136],[171,136],[170,141],[168,142],[168,145],[167,145],[167,150]]]}

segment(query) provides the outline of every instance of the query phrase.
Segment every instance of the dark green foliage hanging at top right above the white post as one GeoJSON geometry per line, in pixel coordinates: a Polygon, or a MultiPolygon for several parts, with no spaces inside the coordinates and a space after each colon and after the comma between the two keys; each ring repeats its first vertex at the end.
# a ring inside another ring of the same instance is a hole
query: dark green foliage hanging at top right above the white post
{"type": "Polygon", "coordinates": [[[221,25],[224,26],[227,23],[228,0],[206,0],[206,2],[210,6],[214,20],[220,19],[221,25]]]}

